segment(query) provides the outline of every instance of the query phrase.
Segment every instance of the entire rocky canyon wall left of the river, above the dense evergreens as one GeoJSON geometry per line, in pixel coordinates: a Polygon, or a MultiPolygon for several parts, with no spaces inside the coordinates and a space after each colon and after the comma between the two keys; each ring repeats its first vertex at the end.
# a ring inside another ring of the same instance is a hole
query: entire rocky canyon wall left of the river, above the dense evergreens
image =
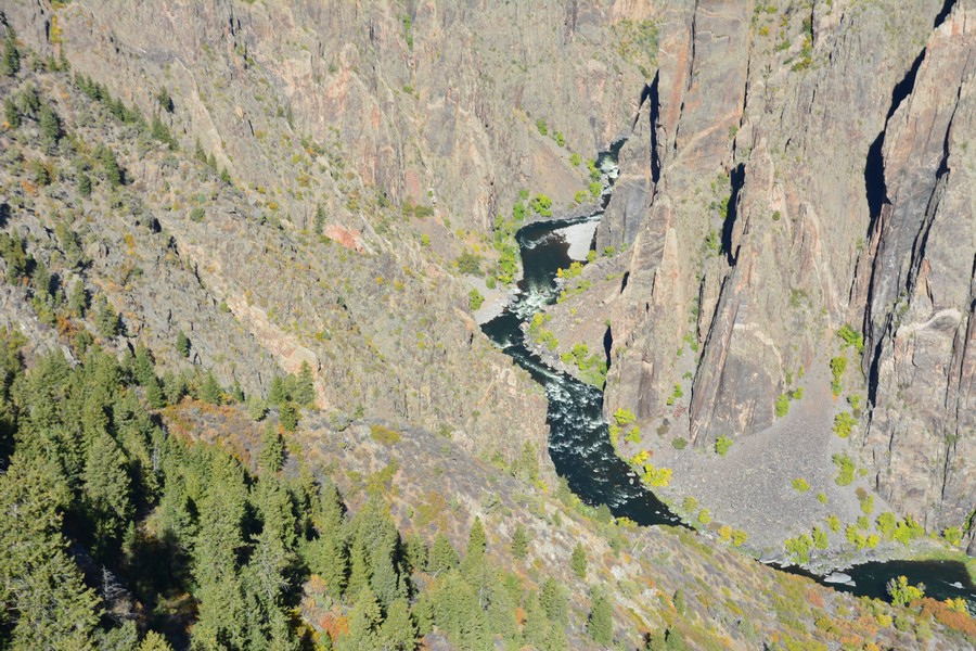
{"type": "MultiPolygon", "coordinates": [[[[525,441],[541,454],[544,398],[481,336],[446,267],[484,245],[521,189],[565,205],[586,188],[570,152],[592,156],[629,124],[653,67],[650,2],[31,0],[3,13],[22,43],[157,118],[184,152],[120,149],[139,216],[39,197],[82,221],[112,214],[82,229],[99,242],[87,282],[133,343],[165,359],[184,330],[191,361],[255,393],[308,361],[323,407],[454,431],[486,456],[511,460],[525,441]],[[131,260],[127,219],[155,225],[132,230],[131,260]],[[144,276],[113,282],[129,263],[144,276]]],[[[76,89],[44,84],[70,129],[93,117],[92,140],[125,142],[76,89]]],[[[52,226],[15,213],[25,235],[52,226]]]]}

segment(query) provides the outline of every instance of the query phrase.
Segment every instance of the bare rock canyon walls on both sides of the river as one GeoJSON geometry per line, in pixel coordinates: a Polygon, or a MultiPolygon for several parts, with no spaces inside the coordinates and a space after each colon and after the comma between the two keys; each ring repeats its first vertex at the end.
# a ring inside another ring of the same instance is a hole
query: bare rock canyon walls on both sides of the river
{"type": "Polygon", "coordinates": [[[811,435],[830,437],[844,399],[864,394],[845,450],[897,510],[958,525],[974,493],[976,17],[952,0],[782,4],[4,11],[25,43],[157,116],[184,152],[198,141],[237,186],[211,192],[201,225],[171,162],[125,154],[170,206],[153,218],[180,265],[159,294],[104,286],[160,346],[181,324],[224,380],[260,388],[308,360],[323,406],[453,427],[484,454],[541,447],[541,396],[481,337],[447,267],[465,248],[495,255],[495,216],[521,189],[568,204],[589,180],[572,153],[627,136],[596,235],[617,259],[586,272],[622,269],[598,285],[611,332],[580,330],[593,349],[613,342],[607,412],[698,448],[767,430],[807,371],[823,382],[852,355],[835,336],[850,324],[863,355],[838,404],[809,410],[823,416],[811,435]],[[182,305],[191,277],[192,305],[163,327],[151,304],[182,305]],[[260,361],[233,368],[236,345],[260,361]]]}

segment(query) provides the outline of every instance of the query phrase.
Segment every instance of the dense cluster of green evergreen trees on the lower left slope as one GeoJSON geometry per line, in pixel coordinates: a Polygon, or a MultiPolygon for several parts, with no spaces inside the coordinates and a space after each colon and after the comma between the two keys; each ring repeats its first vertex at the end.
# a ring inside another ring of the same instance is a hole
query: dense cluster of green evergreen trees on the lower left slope
{"type": "MultiPolygon", "coordinates": [[[[146,348],[119,360],[92,344],[26,370],[21,343],[0,337],[0,648],[303,649],[310,574],[346,617],[337,649],[414,649],[432,631],[568,648],[567,589],[490,563],[480,520],[463,556],[442,534],[404,539],[378,494],[350,515],[329,481],[282,473],[270,423],[257,475],[169,436],[152,407],[180,394],[146,348]]],[[[588,629],[606,643],[600,599],[588,629]]]]}

